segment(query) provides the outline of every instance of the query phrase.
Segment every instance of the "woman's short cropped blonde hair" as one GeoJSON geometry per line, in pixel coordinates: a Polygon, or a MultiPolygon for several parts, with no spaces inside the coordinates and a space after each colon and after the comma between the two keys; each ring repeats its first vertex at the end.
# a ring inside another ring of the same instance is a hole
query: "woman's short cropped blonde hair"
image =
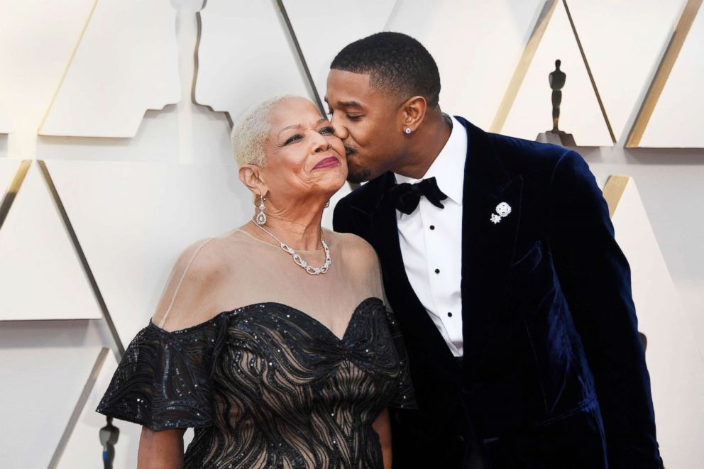
{"type": "Polygon", "coordinates": [[[230,134],[232,151],[235,160],[242,165],[256,165],[264,167],[266,165],[266,155],[264,144],[271,130],[271,111],[281,101],[286,99],[305,99],[302,96],[285,94],[267,99],[258,104],[239,123],[234,126],[230,134]]]}

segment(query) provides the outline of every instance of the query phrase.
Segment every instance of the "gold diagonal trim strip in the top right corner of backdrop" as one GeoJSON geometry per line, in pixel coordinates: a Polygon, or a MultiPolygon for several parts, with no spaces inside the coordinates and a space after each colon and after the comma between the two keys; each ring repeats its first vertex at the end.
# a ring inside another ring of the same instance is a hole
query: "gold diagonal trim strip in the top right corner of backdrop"
{"type": "Polygon", "coordinates": [[[665,53],[661,57],[655,75],[650,82],[650,86],[648,87],[645,98],[643,99],[640,109],[638,110],[633,126],[628,133],[628,138],[625,145],[626,148],[637,148],[640,146],[640,140],[643,138],[645,128],[648,126],[648,122],[653,115],[655,106],[660,99],[660,95],[665,88],[670,72],[672,72],[672,68],[677,61],[677,57],[682,50],[684,41],[687,38],[689,30],[692,28],[694,18],[697,16],[697,12],[700,10],[703,1],[704,0],[687,1],[681,16],[677,21],[677,25],[672,32],[665,53]]]}

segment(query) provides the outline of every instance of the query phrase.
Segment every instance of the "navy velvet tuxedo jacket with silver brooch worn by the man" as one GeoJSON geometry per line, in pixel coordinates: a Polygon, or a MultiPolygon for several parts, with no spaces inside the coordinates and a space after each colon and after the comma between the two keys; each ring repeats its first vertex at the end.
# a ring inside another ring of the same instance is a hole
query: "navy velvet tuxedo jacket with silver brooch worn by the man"
{"type": "MultiPolygon", "coordinates": [[[[659,468],[628,263],[578,153],[468,132],[459,363],[406,276],[391,173],[335,208],[375,248],[404,333],[419,409],[392,414],[394,466],[456,468],[471,441],[489,468],[659,468]],[[500,202],[512,212],[490,221],[500,202]]],[[[442,189],[442,187],[440,187],[442,189]]]]}

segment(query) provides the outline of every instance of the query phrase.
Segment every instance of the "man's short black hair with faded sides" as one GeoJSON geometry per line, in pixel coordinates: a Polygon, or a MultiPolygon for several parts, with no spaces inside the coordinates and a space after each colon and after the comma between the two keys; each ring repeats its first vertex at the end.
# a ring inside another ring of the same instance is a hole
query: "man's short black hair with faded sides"
{"type": "Polygon", "coordinates": [[[370,87],[403,99],[423,96],[429,107],[438,104],[440,74],[428,50],[409,35],[376,33],[341,50],[331,69],[370,75],[370,87]]]}

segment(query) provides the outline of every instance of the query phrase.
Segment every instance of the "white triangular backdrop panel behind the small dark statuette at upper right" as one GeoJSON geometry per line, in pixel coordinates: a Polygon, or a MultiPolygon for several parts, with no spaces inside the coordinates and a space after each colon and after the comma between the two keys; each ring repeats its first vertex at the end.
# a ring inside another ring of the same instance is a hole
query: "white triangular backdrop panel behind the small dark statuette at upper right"
{"type": "MultiPolygon", "coordinates": [[[[562,61],[560,68],[567,75],[562,89],[560,130],[571,133],[580,146],[613,145],[561,3],[550,18],[501,133],[535,140],[539,133],[552,128],[552,92],[548,75],[555,70],[557,59],[562,61]]],[[[600,77],[595,79],[598,84],[600,77]]]]}

